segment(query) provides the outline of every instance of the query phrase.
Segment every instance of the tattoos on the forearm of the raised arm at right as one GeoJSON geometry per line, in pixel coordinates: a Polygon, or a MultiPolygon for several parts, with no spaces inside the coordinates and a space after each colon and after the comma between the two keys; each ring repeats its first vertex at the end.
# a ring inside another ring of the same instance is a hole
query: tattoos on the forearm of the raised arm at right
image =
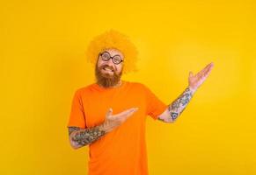
{"type": "MultiPolygon", "coordinates": [[[[174,122],[178,118],[178,116],[187,107],[187,104],[188,102],[190,102],[193,95],[193,91],[190,88],[186,88],[185,91],[181,95],[179,95],[179,97],[175,101],[173,101],[172,104],[168,106],[168,121],[174,122]]],[[[163,121],[163,119],[161,121],[163,121]]]]}

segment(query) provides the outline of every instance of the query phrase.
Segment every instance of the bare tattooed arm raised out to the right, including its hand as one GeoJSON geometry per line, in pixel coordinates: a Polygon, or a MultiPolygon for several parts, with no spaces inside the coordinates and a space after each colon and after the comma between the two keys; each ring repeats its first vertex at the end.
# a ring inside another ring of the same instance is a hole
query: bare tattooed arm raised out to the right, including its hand
{"type": "Polygon", "coordinates": [[[168,106],[167,109],[165,109],[164,113],[158,116],[157,119],[165,123],[173,123],[187,107],[187,104],[190,102],[194,92],[201,86],[201,83],[206,80],[212,67],[213,63],[210,63],[195,75],[190,72],[188,78],[189,86],[174,102],[172,102],[172,104],[168,106]]]}

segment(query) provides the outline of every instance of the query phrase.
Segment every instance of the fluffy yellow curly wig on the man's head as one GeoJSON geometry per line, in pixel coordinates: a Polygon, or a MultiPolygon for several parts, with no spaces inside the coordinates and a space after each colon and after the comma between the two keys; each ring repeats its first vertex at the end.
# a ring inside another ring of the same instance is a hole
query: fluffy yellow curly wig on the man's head
{"type": "Polygon", "coordinates": [[[137,49],[129,38],[113,29],[93,38],[88,45],[86,57],[93,65],[97,63],[99,52],[106,49],[117,49],[124,55],[123,73],[136,72],[137,49]]]}

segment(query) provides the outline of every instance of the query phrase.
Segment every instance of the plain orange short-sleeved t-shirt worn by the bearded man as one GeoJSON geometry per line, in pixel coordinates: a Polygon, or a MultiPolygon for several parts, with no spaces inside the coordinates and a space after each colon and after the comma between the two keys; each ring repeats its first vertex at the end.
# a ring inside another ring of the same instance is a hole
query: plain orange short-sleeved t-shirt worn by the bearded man
{"type": "Polygon", "coordinates": [[[146,116],[156,120],[167,105],[138,82],[122,81],[117,88],[93,83],[77,89],[68,127],[95,127],[104,122],[108,109],[115,115],[134,107],[139,109],[125,123],[89,144],[89,175],[147,175],[146,116]]]}

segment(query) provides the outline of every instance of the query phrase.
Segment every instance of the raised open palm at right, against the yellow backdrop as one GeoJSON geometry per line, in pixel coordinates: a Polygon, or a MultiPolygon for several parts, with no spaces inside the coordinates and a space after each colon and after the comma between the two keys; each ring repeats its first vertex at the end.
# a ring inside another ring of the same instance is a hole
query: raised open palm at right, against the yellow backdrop
{"type": "Polygon", "coordinates": [[[189,72],[188,86],[192,91],[195,91],[201,86],[201,83],[206,80],[213,66],[214,64],[211,62],[208,64],[208,66],[205,66],[199,73],[196,73],[195,75],[193,75],[192,72],[189,72]]]}

